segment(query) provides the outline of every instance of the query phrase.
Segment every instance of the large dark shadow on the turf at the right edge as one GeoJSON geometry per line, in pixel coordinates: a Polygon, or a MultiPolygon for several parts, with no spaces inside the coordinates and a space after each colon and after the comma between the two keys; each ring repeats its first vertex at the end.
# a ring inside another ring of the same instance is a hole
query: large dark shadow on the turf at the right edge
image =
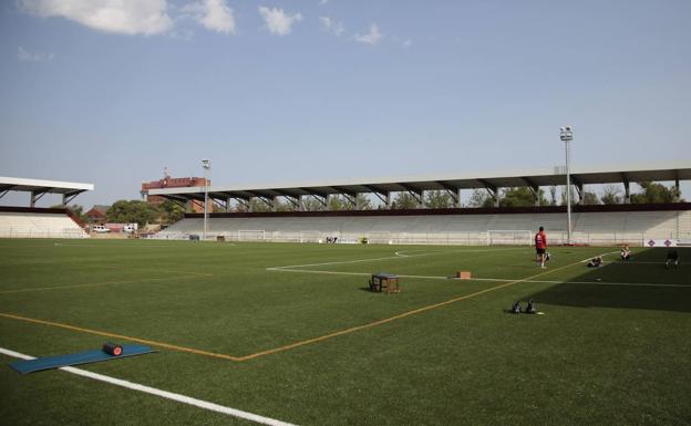
{"type": "MultiPolygon", "coordinates": [[[[524,297],[533,299],[538,306],[544,304],[578,308],[644,309],[656,311],[691,312],[691,264],[679,269],[666,269],[666,249],[640,251],[631,263],[612,262],[600,268],[587,268],[571,282],[555,284],[546,290],[524,297]],[[653,261],[658,263],[636,263],[653,261]],[[579,282],[579,283],[576,283],[579,282]],[[608,285],[604,283],[619,283],[608,285]],[[657,285],[627,285],[646,283],[657,285]],[[659,284],[684,284],[685,287],[663,287],[659,284]]],[[[682,262],[691,259],[690,249],[680,249],[682,262]]],[[[612,256],[610,259],[617,259],[612,256]]]]}

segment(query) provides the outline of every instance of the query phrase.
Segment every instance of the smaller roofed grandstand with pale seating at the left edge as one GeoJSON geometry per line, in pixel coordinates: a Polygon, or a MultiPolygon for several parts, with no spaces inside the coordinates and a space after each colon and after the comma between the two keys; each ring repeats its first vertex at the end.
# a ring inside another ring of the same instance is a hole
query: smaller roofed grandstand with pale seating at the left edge
{"type": "Polygon", "coordinates": [[[0,207],[0,238],[87,238],[79,218],[66,208],[37,208],[47,194],[62,195],[66,206],[92,184],[0,177],[0,198],[9,191],[30,193],[30,207],[0,207]]]}

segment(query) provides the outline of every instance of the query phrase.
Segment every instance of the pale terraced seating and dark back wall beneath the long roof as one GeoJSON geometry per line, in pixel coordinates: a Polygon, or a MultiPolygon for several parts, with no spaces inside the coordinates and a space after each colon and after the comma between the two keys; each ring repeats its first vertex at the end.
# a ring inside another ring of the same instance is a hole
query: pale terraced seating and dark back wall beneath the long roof
{"type": "MultiPolygon", "coordinates": [[[[691,240],[688,210],[576,212],[571,221],[573,241],[581,243],[642,245],[651,238],[691,240]]],[[[566,241],[565,214],[209,218],[207,239],[224,236],[227,240],[317,242],[326,237],[339,237],[343,242],[352,242],[367,237],[370,242],[380,243],[486,245],[487,231],[516,230],[525,232],[513,232],[515,240],[509,240],[512,233],[503,233],[505,243],[524,243],[540,226],[553,243],[566,241]]],[[[190,218],[156,238],[188,238],[202,236],[203,231],[204,219],[190,218]]]]}

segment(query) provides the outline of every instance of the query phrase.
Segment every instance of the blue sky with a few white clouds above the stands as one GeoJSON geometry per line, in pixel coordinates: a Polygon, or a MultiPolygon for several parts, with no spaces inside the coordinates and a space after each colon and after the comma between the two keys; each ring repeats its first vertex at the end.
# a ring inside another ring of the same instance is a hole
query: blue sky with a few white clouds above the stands
{"type": "Polygon", "coordinates": [[[691,159],[688,0],[109,3],[0,6],[0,176],[90,207],[203,158],[218,185],[529,169],[565,124],[574,166],[691,159]]]}

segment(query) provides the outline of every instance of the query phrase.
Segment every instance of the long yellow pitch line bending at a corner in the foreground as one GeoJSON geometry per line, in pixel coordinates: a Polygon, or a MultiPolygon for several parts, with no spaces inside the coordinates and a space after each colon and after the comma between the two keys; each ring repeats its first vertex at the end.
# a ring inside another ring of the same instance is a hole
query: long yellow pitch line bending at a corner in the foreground
{"type": "MultiPolygon", "coordinates": [[[[608,253],[606,253],[606,254],[608,254],[608,253]]],[[[602,256],[605,256],[605,254],[602,254],[602,256]]],[[[221,360],[230,360],[230,361],[238,361],[239,362],[239,361],[254,360],[254,359],[257,359],[257,357],[260,357],[260,356],[275,354],[277,352],[288,351],[288,350],[291,350],[291,349],[295,349],[295,347],[305,346],[305,345],[317,343],[317,342],[322,342],[322,341],[326,341],[328,339],[337,337],[337,336],[344,335],[344,334],[354,333],[354,332],[360,331],[360,330],[371,329],[371,328],[374,328],[374,326],[378,326],[378,325],[381,325],[381,324],[385,324],[385,323],[389,323],[389,322],[392,322],[392,321],[395,321],[395,320],[401,320],[403,318],[408,318],[408,316],[411,316],[411,315],[414,315],[414,314],[417,314],[417,313],[421,313],[421,312],[426,312],[426,311],[430,311],[430,310],[433,310],[433,309],[436,309],[436,308],[441,308],[441,306],[445,306],[447,304],[460,302],[462,300],[467,300],[467,299],[474,298],[476,295],[481,295],[481,294],[488,293],[488,292],[492,292],[492,291],[501,290],[503,288],[506,288],[506,287],[509,287],[509,285],[514,285],[514,284],[517,284],[519,282],[530,281],[534,278],[542,277],[542,276],[545,276],[547,273],[560,271],[563,269],[573,267],[575,264],[580,264],[580,263],[582,263],[582,261],[569,263],[569,264],[566,264],[564,267],[556,268],[556,269],[550,269],[548,271],[544,271],[544,272],[537,273],[537,274],[528,277],[528,278],[509,281],[509,282],[504,283],[504,284],[495,285],[495,287],[492,287],[489,289],[476,291],[476,292],[471,293],[471,294],[466,294],[466,295],[462,295],[462,297],[458,297],[458,298],[450,299],[450,300],[446,300],[446,301],[443,301],[443,302],[440,302],[440,303],[434,303],[434,304],[430,304],[430,305],[426,305],[426,306],[417,308],[417,309],[414,309],[412,311],[403,312],[403,313],[400,313],[398,315],[390,316],[390,318],[386,318],[386,319],[383,319],[383,320],[378,320],[378,321],[374,321],[374,322],[371,322],[371,323],[368,323],[368,324],[353,326],[353,328],[350,328],[350,329],[346,329],[346,330],[337,331],[337,332],[333,332],[333,333],[324,334],[324,335],[321,335],[319,337],[313,337],[313,339],[308,339],[308,340],[290,343],[290,344],[287,344],[287,345],[283,345],[283,346],[270,349],[270,350],[267,350],[267,351],[257,352],[257,353],[245,355],[245,356],[233,356],[233,355],[227,355],[227,354],[219,354],[219,353],[215,353],[215,352],[197,350],[197,349],[194,349],[194,347],[178,346],[178,345],[174,345],[174,344],[169,344],[169,343],[156,342],[156,341],[138,339],[138,337],[131,337],[131,336],[126,336],[126,335],[123,335],[123,334],[115,334],[115,333],[110,333],[110,332],[104,332],[104,331],[99,331],[99,330],[84,329],[84,328],[74,326],[74,325],[70,325],[70,324],[63,324],[63,323],[45,321],[45,320],[38,320],[38,319],[33,319],[33,318],[20,316],[20,315],[14,315],[14,314],[10,314],[10,313],[1,313],[0,312],[0,316],[12,319],[12,320],[32,322],[32,323],[37,323],[37,324],[56,326],[56,328],[61,328],[61,329],[72,330],[72,331],[79,331],[79,332],[82,332],[82,333],[102,335],[102,336],[106,336],[106,337],[123,339],[123,340],[127,340],[127,341],[132,341],[132,342],[149,344],[152,346],[165,347],[165,349],[169,349],[169,350],[178,351],[178,352],[187,352],[187,353],[193,353],[193,354],[197,354],[197,355],[205,355],[205,356],[210,356],[210,357],[216,357],[216,359],[221,359],[221,360]]]]}

